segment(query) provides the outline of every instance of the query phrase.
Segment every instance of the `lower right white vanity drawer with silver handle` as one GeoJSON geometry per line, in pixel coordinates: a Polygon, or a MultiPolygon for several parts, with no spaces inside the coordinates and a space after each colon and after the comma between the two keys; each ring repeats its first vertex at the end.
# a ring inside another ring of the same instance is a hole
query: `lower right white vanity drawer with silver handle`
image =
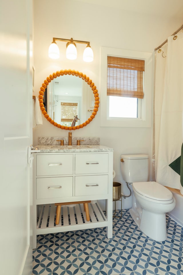
{"type": "Polygon", "coordinates": [[[101,194],[108,194],[108,175],[75,177],[75,196],[101,194]]]}

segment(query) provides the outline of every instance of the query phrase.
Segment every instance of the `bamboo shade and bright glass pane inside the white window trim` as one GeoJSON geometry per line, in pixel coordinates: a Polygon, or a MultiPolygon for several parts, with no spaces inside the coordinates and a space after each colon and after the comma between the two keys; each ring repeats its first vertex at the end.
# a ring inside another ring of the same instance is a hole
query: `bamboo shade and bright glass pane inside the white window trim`
{"type": "Polygon", "coordinates": [[[141,115],[144,60],[108,56],[107,97],[109,117],[141,115]],[[138,100],[139,99],[139,100],[138,100]]]}

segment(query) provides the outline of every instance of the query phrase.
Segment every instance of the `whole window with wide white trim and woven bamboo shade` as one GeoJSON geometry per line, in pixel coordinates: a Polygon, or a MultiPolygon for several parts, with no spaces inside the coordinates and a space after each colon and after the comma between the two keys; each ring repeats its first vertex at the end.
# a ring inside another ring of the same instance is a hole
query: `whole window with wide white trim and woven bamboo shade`
{"type": "Polygon", "coordinates": [[[101,50],[100,125],[151,127],[152,54],[101,50]]]}

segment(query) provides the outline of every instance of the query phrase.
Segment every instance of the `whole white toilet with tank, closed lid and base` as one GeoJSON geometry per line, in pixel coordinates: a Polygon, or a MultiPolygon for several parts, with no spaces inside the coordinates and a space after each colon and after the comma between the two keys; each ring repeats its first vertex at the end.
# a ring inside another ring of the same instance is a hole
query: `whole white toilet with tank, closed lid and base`
{"type": "Polygon", "coordinates": [[[121,155],[123,179],[132,184],[130,215],[139,229],[155,241],[165,241],[166,213],[174,209],[172,192],[158,182],[148,182],[149,156],[121,155]]]}

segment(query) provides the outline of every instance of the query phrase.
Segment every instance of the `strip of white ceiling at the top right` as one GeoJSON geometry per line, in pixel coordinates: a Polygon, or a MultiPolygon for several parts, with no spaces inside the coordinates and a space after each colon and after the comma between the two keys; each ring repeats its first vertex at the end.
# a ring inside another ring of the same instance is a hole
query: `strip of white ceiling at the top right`
{"type": "Polygon", "coordinates": [[[77,0],[94,5],[162,17],[182,17],[182,0],[77,0]]]}

